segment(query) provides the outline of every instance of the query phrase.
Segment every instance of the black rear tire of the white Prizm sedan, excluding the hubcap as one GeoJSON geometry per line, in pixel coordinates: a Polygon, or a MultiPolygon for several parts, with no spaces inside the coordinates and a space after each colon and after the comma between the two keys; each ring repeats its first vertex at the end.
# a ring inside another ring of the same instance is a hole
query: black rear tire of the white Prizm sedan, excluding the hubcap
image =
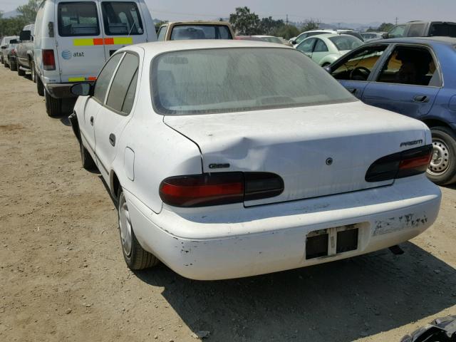
{"type": "MultiPolygon", "coordinates": [[[[157,257],[149,252],[145,251],[138,239],[136,239],[135,232],[133,231],[133,226],[130,222],[130,232],[131,232],[131,247],[130,250],[126,250],[125,244],[123,243],[122,237],[122,227],[121,224],[125,224],[124,220],[121,220],[121,210],[123,210],[123,206],[127,206],[127,202],[125,201],[125,196],[123,195],[122,187],[120,187],[118,192],[118,219],[119,219],[119,235],[120,235],[120,244],[122,245],[122,253],[123,259],[125,259],[125,263],[127,264],[129,269],[137,270],[137,269],[148,269],[150,267],[156,266],[159,263],[157,257]]],[[[127,208],[128,210],[128,208],[127,208]]]]}

